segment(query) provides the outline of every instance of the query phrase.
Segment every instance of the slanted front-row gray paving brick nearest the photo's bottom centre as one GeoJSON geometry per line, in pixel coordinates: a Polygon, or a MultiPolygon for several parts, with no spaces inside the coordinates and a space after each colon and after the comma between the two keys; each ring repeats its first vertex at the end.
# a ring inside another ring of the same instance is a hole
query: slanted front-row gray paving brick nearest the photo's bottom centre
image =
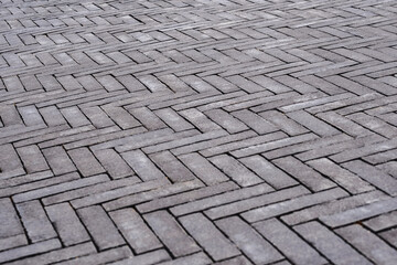
{"type": "Polygon", "coordinates": [[[203,214],[195,213],[186,215],[180,218],[180,222],[215,261],[240,254],[237,247],[203,214]]]}

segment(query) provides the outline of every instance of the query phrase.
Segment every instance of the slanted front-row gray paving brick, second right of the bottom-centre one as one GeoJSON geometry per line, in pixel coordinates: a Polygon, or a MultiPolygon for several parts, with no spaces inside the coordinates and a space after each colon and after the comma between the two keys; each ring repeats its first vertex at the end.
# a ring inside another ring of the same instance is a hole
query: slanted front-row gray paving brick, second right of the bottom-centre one
{"type": "Polygon", "coordinates": [[[307,242],[277,219],[256,223],[254,227],[294,264],[328,263],[307,242]]]}

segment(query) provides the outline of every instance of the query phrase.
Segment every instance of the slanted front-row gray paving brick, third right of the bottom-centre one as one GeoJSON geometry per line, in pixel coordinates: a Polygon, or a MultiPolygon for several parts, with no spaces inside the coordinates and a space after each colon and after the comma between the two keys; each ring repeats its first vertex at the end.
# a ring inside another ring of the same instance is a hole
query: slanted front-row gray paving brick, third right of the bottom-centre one
{"type": "Polygon", "coordinates": [[[314,245],[335,264],[372,264],[341,237],[318,222],[309,222],[294,227],[307,241],[314,245]]]}

